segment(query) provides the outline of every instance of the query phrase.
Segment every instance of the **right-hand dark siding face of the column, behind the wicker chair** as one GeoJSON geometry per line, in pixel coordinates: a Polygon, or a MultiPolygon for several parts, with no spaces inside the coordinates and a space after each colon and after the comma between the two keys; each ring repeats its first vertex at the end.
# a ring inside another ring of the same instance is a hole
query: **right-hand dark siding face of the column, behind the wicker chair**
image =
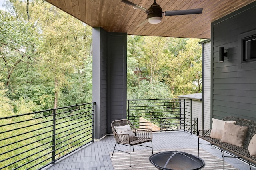
{"type": "Polygon", "coordinates": [[[109,125],[118,119],[126,119],[126,68],[127,68],[127,34],[109,33],[109,125]]]}

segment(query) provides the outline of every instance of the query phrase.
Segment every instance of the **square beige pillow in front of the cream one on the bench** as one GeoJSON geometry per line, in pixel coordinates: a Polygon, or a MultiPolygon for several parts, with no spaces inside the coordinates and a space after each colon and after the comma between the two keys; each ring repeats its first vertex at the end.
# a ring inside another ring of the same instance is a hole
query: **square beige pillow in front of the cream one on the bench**
{"type": "Polygon", "coordinates": [[[224,133],[220,141],[243,148],[247,131],[248,127],[242,127],[225,122],[224,133]]]}

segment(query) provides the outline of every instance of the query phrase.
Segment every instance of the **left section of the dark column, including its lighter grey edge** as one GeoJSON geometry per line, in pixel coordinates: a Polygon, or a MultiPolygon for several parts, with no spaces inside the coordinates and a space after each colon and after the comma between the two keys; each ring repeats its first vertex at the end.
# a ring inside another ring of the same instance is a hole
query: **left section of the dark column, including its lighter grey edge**
{"type": "Polygon", "coordinates": [[[95,138],[107,134],[108,109],[108,32],[93,28],[92,101],[95,108],[95,138]]]}

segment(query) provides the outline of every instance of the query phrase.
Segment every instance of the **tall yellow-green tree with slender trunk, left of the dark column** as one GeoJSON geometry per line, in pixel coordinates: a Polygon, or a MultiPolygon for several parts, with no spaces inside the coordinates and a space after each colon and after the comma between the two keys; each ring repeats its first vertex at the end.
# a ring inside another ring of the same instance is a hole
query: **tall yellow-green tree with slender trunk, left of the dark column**
{"type": "Polygon", "coordinates": [[[54,82],[54,108],[62,87],[68,85],[67,75],[81,73],[83,61],[90,54],[91,29],[72,16],[53,8],[50,4],[37,4],[31,17],[38,20],[43,43],[40,52],[40,69],[54,82]],[[40,12],[43,16],[38,15],[40,12]],[[35,14],[35,16],[33,16],[35,14]]]}

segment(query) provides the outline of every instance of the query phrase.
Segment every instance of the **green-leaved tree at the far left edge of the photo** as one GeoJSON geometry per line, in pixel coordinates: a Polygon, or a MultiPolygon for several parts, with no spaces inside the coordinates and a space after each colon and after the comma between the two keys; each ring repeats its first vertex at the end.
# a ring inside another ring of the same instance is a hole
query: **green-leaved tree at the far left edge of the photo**
{"type": "Polygon", "coordinates": [[[11,84],[15,67],[24,61],[34,60],[38,42],[36,30],[26,20],[20,20],[0,10],[0,59],[6,86],[11,84]]]}

